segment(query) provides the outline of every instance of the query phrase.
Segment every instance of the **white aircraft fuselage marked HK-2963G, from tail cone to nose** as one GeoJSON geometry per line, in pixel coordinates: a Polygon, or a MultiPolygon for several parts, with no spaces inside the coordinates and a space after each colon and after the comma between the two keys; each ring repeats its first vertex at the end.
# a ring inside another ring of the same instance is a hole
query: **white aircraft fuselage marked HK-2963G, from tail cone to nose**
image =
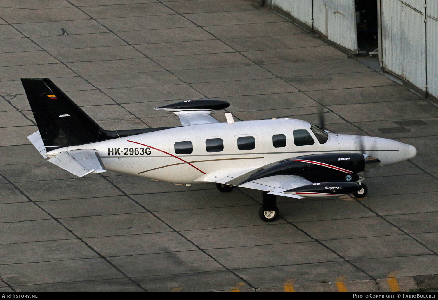
{"type": "Polygon", "coordinates": [[[245,169],[250,171],[302,155],[364,153],[378,158],[381,161],[379,166],[405,161],[416,155],[415,147],[390,139],[331,132],[328,135],[327,141],[321,144],[311,125],[296,119],[240,121],[181,126],[69,146],[50,151],[46,156],[53,157],[65,150],[95,149],[107,170],[191,184],[214,182],[219,177],[236,177],[245,169]],[[294,130],[299,129],[307,130],[314,143],[310,144],[310,141],[297,146],[294,130]],[[222,139],[223,148],[219,139],[222,139]]]}

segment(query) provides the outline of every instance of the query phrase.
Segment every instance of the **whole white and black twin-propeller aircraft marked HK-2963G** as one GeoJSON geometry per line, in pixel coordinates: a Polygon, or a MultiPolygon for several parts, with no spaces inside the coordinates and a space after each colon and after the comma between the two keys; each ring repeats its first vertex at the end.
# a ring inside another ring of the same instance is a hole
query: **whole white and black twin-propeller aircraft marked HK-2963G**
{"type": "Polygon", "coordinates": [[[415,157],[414,146],[335,134],[306,121],[227,122],[210,116],[230,104],[187,100],[157,107],[182,126],[109,131],[99,127],[50,79],[21,79],[39,131],[28,139],[43,157],[79,177],[106,170],[191,185],[215,182],[263,191],[263,221],[278,217],[276,196],[363,197],[363,171],[415,157]]]}

